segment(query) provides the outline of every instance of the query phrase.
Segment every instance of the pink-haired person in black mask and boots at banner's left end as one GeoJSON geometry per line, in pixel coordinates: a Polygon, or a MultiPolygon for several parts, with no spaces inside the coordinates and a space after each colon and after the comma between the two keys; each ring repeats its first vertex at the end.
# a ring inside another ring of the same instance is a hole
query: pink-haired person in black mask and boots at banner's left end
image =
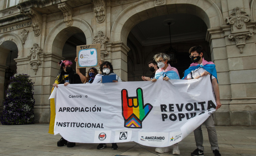
{"type": "MultiPolygon", "coordinates": [[[[80,83],[82,83],[79,75],[74,73],[74,70],[71,67],[71,65],[72,65],[71,61],[69,61],[69,60],[60,61],[59,65],[61,66],[61,68],[60,68],[60,70],[57,74],[57,77],[55,79],[54,84],[52,85],[53,88],[54,87],[58,88],[58,84],[64,84],[64,86],[67,86],[68,84],[80,84],[80,83]]],[[[53,90],[53,88],[52,88],[52,90],[53,90]]],[[[52,107],[55,108],[54,99],[50,100],[50,104],[51,104],[51,111],[53,111],[52,107]]],[[[54,110],[54,112],[55,112],[55,110],[54,110]]],[[[51,125],[52,123],[54,124],[54,122],[52,121],[53,118],[55,119],[55,114],[54,114],[54,117],[51,116],[50,127],[52,126],[51,125]]],[[[50,131],[50,128],[49,128],[49,133],[53,134],[53,132],[50,131]]],[[[66,139],[64,139],[62,137],[57,142],[57,146],[61,147],[61,146],[64,146],[64,145],[67,145],[67,147],[74,147],[75,143],[68,142],[66,139]]]]}

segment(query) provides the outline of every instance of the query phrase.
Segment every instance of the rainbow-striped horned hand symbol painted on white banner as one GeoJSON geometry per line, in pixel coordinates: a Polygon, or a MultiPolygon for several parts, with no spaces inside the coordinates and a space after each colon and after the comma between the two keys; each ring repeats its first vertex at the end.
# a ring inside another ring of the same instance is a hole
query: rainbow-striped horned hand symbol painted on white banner
{"type": "Polygon", "coordinates": [[[153,108],[149,103],[144,105],[141,88],[137,88],[136,92],[137,96],[128,97],[126,89],[121,91],[122,115],[124,119],[124,127],[127,128],[142,128],[142,121],[153,108]]]}

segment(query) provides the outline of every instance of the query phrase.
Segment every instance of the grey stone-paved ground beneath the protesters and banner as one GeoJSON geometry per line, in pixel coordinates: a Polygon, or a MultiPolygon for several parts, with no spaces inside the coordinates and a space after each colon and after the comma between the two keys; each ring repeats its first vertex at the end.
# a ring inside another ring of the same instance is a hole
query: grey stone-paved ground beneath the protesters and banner
{"type": "MultiPolygon", "coordinates": [[[[203,126],[202,126],[203,127],[203,126]]],[[[48,124],[0,125],[0,156],[155,156],[155,148],[137,145],[134,142],[118,143],[118,150],[97,150],[97,144],[76,143],[73,148],[57,147],[60,135],[48,132],[48,124]],[[154,153],[150,153],[154,152],[154,153]]],[[[222,156],[256,156],[256,127],[217,126],[218,143],[222,156]]],[[[205,156],[212,156],[207,130],[204,128],[205,156]]],[[[181,156],[190,156],[195,149],[191,133],[179,143],[181,156]]],[[[163,153],[158,155],[172,155],[163,153]]]]}

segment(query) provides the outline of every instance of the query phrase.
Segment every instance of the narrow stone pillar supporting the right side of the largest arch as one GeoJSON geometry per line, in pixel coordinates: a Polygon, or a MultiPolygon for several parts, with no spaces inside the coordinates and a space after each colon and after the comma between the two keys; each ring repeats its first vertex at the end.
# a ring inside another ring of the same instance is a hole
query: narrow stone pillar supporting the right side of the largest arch
{"type": "Polygon", "coordinates": [[[231,125],[229,103],[232,95],[226,45],[229,45],[230,41],[227,37],[222,37],[224,34],[225,28],[208,29],[206,38],[210,42],[211,60],[216,65],[220,102],[222,103],[222,106],[214,113],[215,123],[228,126],[231,125]]]}

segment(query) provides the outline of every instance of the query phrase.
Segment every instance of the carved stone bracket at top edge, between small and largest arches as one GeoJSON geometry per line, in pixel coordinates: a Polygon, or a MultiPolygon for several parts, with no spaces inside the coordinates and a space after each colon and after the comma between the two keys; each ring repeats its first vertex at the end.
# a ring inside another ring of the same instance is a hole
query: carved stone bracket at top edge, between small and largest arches
{"type": "Polygon", "coordinates": [[[101,23],[105,20],[106,5],[103,0],[93,0],[96,21],[101,23]]]}

